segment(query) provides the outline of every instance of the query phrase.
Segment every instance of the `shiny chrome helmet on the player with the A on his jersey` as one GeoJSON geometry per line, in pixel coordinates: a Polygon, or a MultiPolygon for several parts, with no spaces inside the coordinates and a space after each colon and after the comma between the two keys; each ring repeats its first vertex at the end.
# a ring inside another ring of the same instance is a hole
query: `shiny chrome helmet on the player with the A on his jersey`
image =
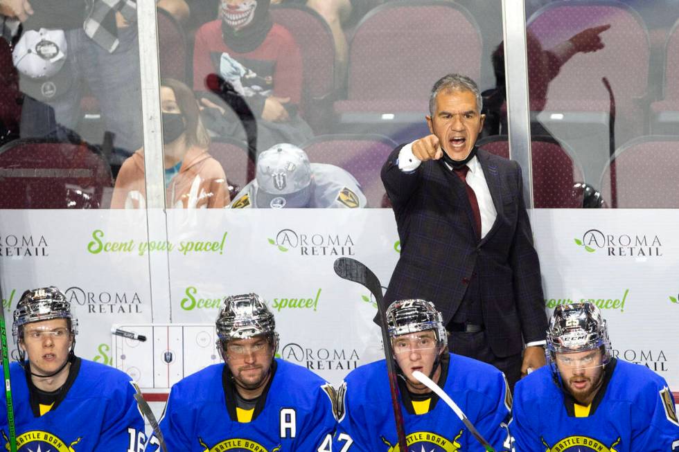
{"type": "Polygon", "coordinates": [[[224,298],[217,314],[218,348],[233,339],[248,339],[263,334],[270,341],[274,354],[278,349],[279,336],[276,333],[274,314],[265,300],[256,293],[245,293],[224,298]]]}

